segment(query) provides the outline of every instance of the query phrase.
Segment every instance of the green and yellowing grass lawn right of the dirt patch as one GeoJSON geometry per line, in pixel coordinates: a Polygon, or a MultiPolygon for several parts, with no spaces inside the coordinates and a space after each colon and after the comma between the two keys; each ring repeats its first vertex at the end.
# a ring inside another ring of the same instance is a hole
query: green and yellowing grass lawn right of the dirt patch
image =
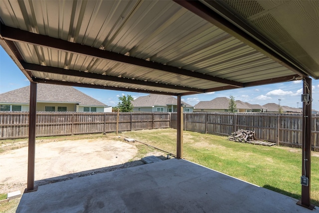
{"type": "MultiPolygon", "coordinates": [[[[125,136],[176,153],[176,130],[126,132],[125,136]]],[[[183,158],[249,183],[300,199],[302,150],[236,143],[227,137],[183,132],[183,158]]],[[[311,198],[319,206],[319,153],[312,154],[311,198]]]]}

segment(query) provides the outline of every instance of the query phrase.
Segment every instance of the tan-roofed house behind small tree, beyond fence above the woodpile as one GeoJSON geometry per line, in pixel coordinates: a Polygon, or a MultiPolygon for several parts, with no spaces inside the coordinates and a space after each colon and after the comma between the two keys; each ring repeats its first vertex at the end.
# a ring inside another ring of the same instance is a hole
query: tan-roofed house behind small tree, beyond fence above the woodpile
{"type": "MultiPolygon", "coordinates": [[[[200,101],[194,106],[194,112],[228,112],[229,98],[218,97],[210,101],[200,101]]],[[[249,104],[236,101],[236,112],[252,112],[249,104]]]]}

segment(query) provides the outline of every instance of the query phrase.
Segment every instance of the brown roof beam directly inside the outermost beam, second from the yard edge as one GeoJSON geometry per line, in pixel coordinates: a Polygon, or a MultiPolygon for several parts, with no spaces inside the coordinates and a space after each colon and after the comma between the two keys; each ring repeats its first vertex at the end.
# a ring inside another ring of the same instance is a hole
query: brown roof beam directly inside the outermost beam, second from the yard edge
{"type": "Polygon", "coordinates": [[[120,78],[120,77],[111,76],[111,75],[101,75],[101,74],[97,74],[97,73],[83,72],[83,71],[77,71],[77,70],[71,70],[71,69],[41,66],[41,65],[30,64],[30,63],[25,63],[25,62],[21,62],[21,65],[23,66],[23,68],[25,70],[30,70],[30,71],[47,72],[47,73],[54,73],[54,74],[61,74],[61,75],[70,75],[70,76],[76,76],[76,77],[99,79],[99,80],[122,82],[122,83],[145,85],[145,86],[153,86],[153,87],[159,87],[159,88],[188,90],[188,91],[193,91],[193,92],[197,92],[197,93],[204,93],[205,92],[205,90],[203,90],[203,89],[190,88],[190,87],[184,87],[184,86],[175,86],[175,85],[171,85],[171,84],[155,83],[155,82],[130,79],[130,78],[120,78]]]}

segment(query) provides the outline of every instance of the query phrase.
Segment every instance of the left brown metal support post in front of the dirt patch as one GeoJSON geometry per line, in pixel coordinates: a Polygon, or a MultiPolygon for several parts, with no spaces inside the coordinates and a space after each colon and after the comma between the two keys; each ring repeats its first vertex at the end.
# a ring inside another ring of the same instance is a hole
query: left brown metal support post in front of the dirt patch
{"type": "Polygon", "coordinates": [[[24,193],[33,192],[37,190],[37,187],[34,187],[36,87],[37,87],[37,83],[30,82],[28,174],[27,174],[28,177],[27,177],[27,188],[25,189],[24,193]]]}

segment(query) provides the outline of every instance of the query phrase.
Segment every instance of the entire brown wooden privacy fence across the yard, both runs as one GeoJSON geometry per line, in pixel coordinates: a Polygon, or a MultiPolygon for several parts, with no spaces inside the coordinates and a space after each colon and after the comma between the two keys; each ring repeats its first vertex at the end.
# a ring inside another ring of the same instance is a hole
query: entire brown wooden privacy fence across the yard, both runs
{"type": "MultiPolygon", "coordinates": [[[[260,140],[278,145],[301,146],[300,114],[184,113],[187,131],[229,136],[237,129],[255,131],[260,140]]],[[[28,136],[28,112],[0,112],[0,139],[28,136]]],[[[119,131],[176,128],[176,113],[129,112],[119,114],[119,131]]],[[[117,113],[37,112],[36,136],[115,132],[117,113]]],[[[319,149],[319,115],[312,116],[312,146],[319,149]]]]}

